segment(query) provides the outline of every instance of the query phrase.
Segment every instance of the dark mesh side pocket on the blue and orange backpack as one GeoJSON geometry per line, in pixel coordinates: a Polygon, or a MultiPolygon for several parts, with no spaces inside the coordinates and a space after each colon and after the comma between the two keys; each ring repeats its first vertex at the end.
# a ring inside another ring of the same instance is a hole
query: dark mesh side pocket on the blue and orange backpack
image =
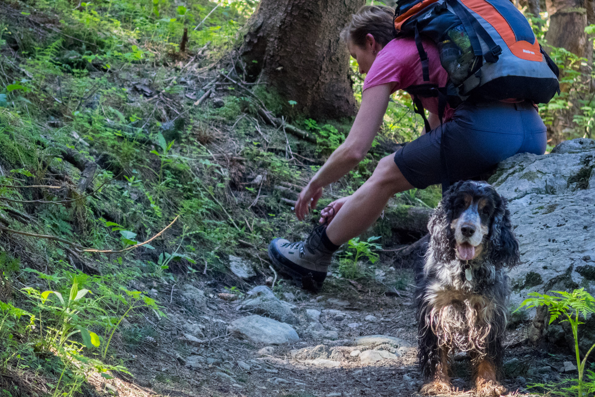
{"type": "Polygon", "coordinates": [[[446,32],[444,40],[438,42],[438,49],[440,63],[455,86],[461,85],[480,62],[480,57],[473,53],[469,35],[462,24],[446,32]]]}

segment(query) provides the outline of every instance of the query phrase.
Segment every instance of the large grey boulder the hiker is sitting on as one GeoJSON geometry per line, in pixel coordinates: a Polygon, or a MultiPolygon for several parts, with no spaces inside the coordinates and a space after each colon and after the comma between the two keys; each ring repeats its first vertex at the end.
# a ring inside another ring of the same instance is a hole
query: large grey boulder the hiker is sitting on
{"type": "Polygon", "coordinates": [[[573,139],[552,154],[514,155],[491,177],[520,243],[521,265],[509,271],[513,307],[534,291],[595,293],[594,157],[595,140],[573,139]]]}

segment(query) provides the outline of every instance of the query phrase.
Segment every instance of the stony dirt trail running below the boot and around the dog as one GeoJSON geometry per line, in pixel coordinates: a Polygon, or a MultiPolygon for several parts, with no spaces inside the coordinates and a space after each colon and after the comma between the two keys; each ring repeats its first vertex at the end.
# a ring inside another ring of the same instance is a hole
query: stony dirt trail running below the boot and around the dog
{"type": "MultiPolygon", "coordinates": [[[[397,270],[396,274],[400,272],[397,270]]],[[[293,327],[300,339],[284,345],[252,343],[229,335],[227,326],[233,320],[253,313],[236,310],[240,300],[221,299],[217,283],[202,286],[207,299],[204,310],[188,304],[176,305],[180,292],[174,287],[173,303],[167,305],[172,314],[170,320],[158,322],[156,318],[146,317],[161,335],[121,357],[136,379],[124,377],[109,382],[120,396],[416,395],[422,379],[417,366],[417,325],[411,286],[387,293],[386,282],[375,280],[362,286],[331,277],[327,283],[329,286],[320,295],[309,295],[289,284],[283,287],[286,292],[277,294],[290,300],[295,296],[291,303],[299,318],[299,325],[293,327]],[[317,311],[320,312],[317,321],[322,326],[318,329],[322,333],[336,332],[336,339],[312,337],[309,330],[312,315],[318,317],[317,311]],[[175,322],[178,320],[191,320],[205,337],[200,342],[191,342],[187,337],[188,323],[180,327],[175,322]],[[405,342],[400,348],[390,344],[375,347],[374,351],[383,351],[390,358],[374,362],[377,356],[364,354],[372,346],[356,347],[354,342],[357,337],[369,335],[391,336],[405,342]],[[361,353],[358,355],[354,350],[361,353]]],[[[168,295],[162,301],[169,302],[171,289],[162,289],[158,297],[168,295]]],[[[230,295],[221,296],[230,298],[230,295]]],[[[524,387],[529,376],[533,382],[558,376],[559,363],[553,364],[545,352],[525,342],[527,327],[528,323],[521,323],[518,329],[508,333],[505,385],[511,395],[527,395],[524,387]],[[550,360],[547,370],[546,360],[550,360]]],[[[472,387],[470,366],[464,355],[453,362],[453,378],[458,392],[452,396],[471,395],[467,391],[472,387]]]]}

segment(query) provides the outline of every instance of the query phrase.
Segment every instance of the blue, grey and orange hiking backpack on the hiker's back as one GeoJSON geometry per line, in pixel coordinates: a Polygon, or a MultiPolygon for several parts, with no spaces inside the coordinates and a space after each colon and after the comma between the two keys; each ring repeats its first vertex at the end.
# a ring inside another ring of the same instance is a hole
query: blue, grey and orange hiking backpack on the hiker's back
{"type": "Polygon", "coordinates": [[[446,104],[468,98],[500,101],[515,98],[547,103],[559,90],[559,71],[537,42],[524,15],[509,0],[398,0],[396,35],[412,35],[424,83],[405,90],[414,110],[425,118],[419,97],[439,97],[439,117],[446,104]],[[446,87],[430,84],[428,57],[421,37],[433,40],[447,71],[446,87]]]}

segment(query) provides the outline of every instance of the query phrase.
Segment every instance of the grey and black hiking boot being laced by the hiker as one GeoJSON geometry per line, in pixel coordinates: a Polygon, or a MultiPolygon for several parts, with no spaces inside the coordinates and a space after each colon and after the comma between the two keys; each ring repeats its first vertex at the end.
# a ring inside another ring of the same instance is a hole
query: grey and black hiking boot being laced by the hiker
{"type": "Polygon", "coordinates": [[[305,241],[292,243],[277,238],[268,245],[268,257],[273,264],[312,292],[322,287],[333,257],[334,251],[327,249],[321,240],[325,229],[325,225],[316,227],[305,241]]]}

